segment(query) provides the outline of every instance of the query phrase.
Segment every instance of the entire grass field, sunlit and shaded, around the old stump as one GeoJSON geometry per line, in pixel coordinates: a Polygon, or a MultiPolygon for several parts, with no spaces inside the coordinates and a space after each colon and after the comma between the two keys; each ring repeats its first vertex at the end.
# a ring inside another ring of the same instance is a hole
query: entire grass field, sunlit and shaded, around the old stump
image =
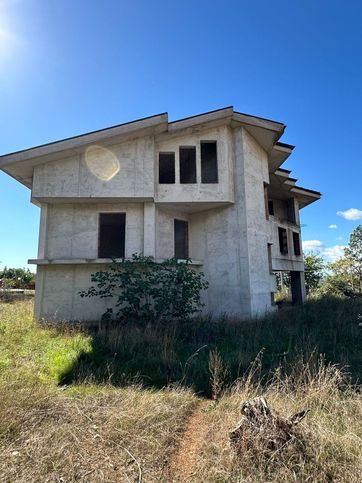
{"type": "Polygon", "coordinates": [[[360,481],[361,302],[96,332],[31,310],[0,304],[1,482],[360,481]],[[284,416],[310,410],[302,451],[234,453],[240,405],[261,394],[284,416]]]}

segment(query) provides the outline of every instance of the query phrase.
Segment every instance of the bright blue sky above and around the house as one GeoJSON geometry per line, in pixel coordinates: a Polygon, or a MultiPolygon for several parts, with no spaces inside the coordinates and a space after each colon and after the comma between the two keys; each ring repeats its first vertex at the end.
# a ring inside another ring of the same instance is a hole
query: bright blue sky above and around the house
{"type": "MultiPolygon", "coordinates": [[[[357,0],[0,0],[0,154],[233,105],[287,124],[284,167],[323,193],[303,238],[334,256],[362,223],[361,24],[357,0]]],[[[36,257],[29,198],[0,173],[0,266],[36,257]]]]}

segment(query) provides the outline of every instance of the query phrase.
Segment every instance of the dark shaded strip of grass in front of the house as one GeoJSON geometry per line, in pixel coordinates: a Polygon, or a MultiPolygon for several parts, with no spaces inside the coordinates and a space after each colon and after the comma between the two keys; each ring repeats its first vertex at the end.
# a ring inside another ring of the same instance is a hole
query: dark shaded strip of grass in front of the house
{"type": "MultiPolygon", "coordinates": [[[[60,384],[93,383],[191,387],[210,396],[245,376],[262,351],[254,377],[264,381],[283,367],[290,373],[318,355],[362,376],[362,299],[325,298],[287,307],[263,319],[197,319],[156,325],[108,323],[88,328],[92,349],[82,353],[60,384]],[[215,358],[215,355],[217,356],[215,358]]],[[[86,329],[85,329],[86,330],[86,329]]]]}

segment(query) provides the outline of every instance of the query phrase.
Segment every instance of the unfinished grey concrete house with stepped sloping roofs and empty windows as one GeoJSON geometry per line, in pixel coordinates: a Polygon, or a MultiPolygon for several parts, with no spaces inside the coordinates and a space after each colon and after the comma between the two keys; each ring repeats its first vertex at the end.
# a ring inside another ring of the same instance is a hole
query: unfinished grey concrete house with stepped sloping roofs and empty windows
{"type": "Polygon", "coordinates": [[[192,259],[209,282],[204,310],[272,310],[273,272],[305,297],[299,210],[320,193],[281,166],[285,126],[232,107],[169,122],[166,113],[0,158],[41,209],[35,316],[95,320],[81,298],[110,257],[192,259]]]}

